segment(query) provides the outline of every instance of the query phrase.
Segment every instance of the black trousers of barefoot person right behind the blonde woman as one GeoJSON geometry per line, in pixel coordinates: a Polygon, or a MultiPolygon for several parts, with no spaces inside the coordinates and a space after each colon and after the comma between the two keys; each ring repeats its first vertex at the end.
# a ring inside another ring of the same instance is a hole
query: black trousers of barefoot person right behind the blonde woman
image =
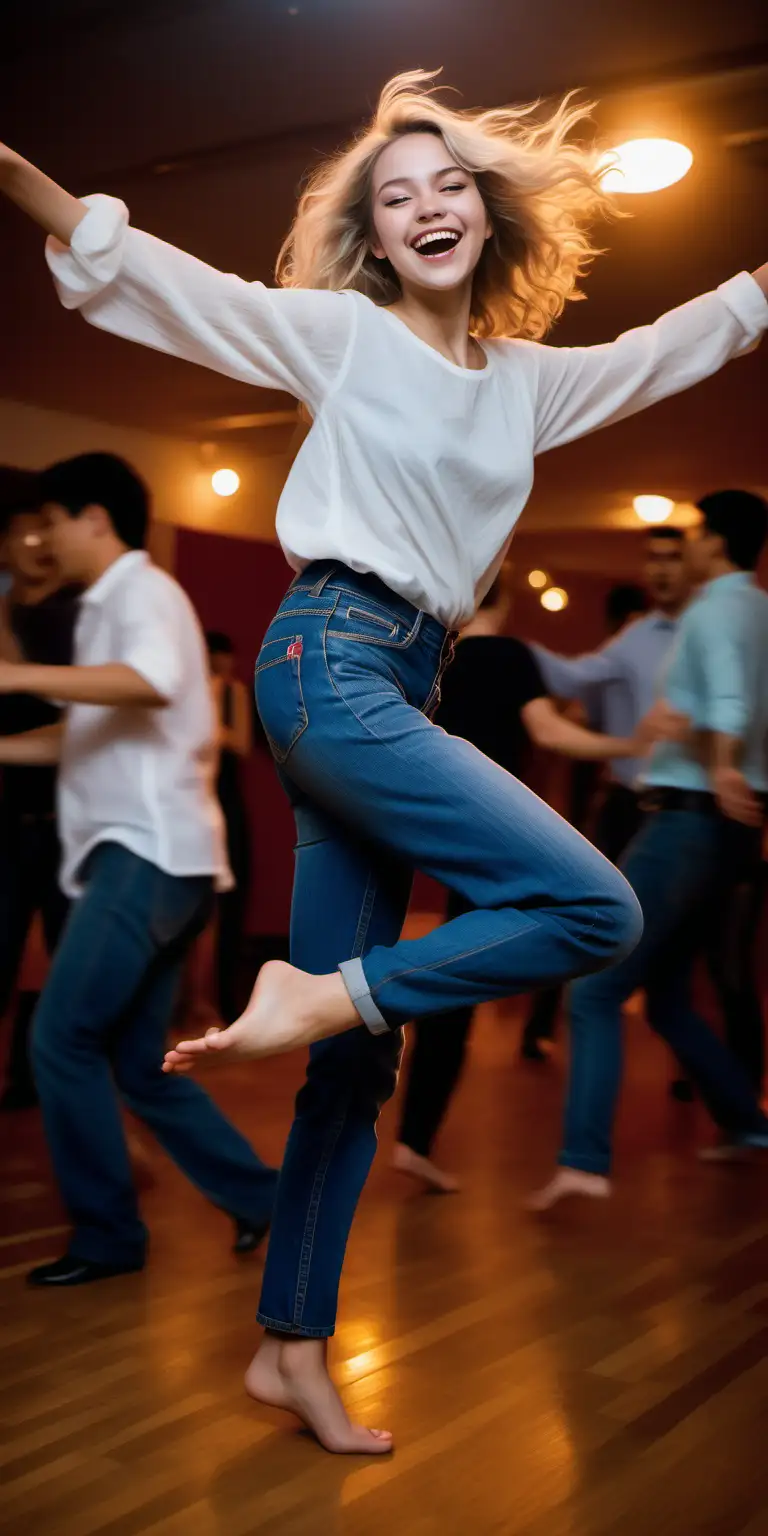
{"type": "MultiPolygon", "coordinates": [[[[447,922],[470,911],[472,906],[461,895],[449,891],[447,922]]],[[[473,1014],[473,1008],[452,1008],[445,1014],[430,1014],[412,1025],[413,1049],[398,1141],[419,1157],[430,1155],[456,1091],[467,1058],[473,1014]]]]}

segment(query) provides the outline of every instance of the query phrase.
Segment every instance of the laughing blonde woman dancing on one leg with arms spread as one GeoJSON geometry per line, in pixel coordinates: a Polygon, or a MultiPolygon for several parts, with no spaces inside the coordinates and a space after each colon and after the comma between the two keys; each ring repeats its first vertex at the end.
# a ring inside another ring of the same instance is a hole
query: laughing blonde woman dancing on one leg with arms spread
{"type": "Polygon", "coordinates": [[[390,81],[313,177],[276,289],[131,229],[121,203],[78,201],[12,152],[0,163],[52,237],[65,306],[289,390],[313,419],[276,524],[296,578],[257,665],[298,825],[292,965],[264,966],[243,1018],[166,1069],[310,1048],[246,1382],[333,1452],[392,1448],[349,1421],[326,1350],[402,1026],[596,971],[641,932],[601,854],[430,723],[452,633],[501,565],[536,453],[687,389],[768,323],[763,267],[610,346],[542,346],[608,209],[598,152],[573,141],[585,111],[458,112],[429,84],[390,81]],[[473,911],[402,940],[413,868],[473,911]]]}

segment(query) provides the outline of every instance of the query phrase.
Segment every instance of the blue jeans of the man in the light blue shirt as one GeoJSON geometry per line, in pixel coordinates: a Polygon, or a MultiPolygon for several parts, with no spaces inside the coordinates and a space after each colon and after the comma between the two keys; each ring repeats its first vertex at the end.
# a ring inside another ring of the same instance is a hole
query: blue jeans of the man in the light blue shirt
{"type": "Polygon", "coordinates": [[[622,862],[645,928],[637,948],[602,975],[570,991],[570,1083],[559,1161],[608,1174],[622,1077],[622,1005],[647,992],[647,1017],[728,1134],[763,1132],[765,1120],[745,1068],[691,1005],[697,955],[716,958],[727,909],[751,879],[759,834],[725,817],[665,809],[648,816],[622,862]]]}

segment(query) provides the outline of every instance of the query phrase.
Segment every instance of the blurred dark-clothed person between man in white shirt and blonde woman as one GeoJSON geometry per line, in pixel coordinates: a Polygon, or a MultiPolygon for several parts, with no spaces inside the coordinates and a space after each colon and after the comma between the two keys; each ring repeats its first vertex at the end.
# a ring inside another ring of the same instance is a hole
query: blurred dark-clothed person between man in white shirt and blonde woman
{"type": "Polygon", "coordinates": [[[217,794],[224,816],[229,868],[233,886],[218,897],[217,926],[217,1006],[224,1023],[240,1012],[238,978],[243,963],[250,877],[250,826],[241,783],[241,763],[253,750],[253,705],[246,685],[237,677],[235,648],[229,634],[206,634],[214,703],[218,720],[217,794]]]}

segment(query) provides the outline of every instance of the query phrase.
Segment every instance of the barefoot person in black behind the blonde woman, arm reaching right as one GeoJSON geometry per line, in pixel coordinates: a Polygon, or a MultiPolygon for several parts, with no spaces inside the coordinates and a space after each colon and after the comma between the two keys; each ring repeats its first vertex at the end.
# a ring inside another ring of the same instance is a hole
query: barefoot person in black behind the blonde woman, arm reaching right
{"type": "MultiPolygon", "coordinates": [[[[602,736],[567,719],[547,697],[530,647],[504,633],[508,616],[507,570],[496,578],[458,642],[442,680],[436,725],[472,742],[522,783],[528,777],[531,743],[590,763],[621,760],[645,750],[637,733],[627,739],[602,736]]],[[[449,891],[447,920],[468,911],[472,903],[449,891]]],[[[459,1183],[432,1160],[432,1149],[464,1068],[473,1014],[473,1008],[455,1008],[419,1018],[413,1026],[393,1163],[398,1172],[442,1193],[459,1189],[459,1183]]]]}

